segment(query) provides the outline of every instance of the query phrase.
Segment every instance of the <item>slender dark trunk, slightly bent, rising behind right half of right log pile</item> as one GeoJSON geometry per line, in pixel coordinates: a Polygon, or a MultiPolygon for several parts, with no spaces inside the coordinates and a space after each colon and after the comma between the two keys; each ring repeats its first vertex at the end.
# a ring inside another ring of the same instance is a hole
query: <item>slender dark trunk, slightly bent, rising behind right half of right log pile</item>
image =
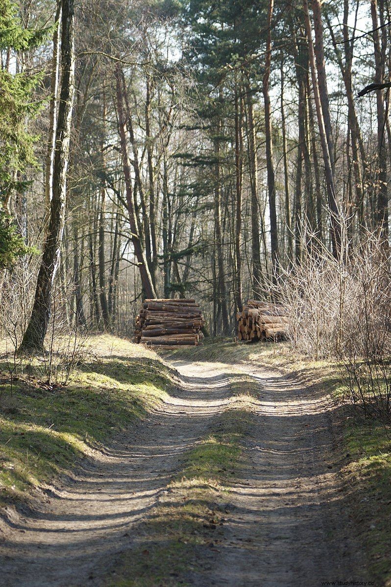
{"type": "Polygon", "coordinates": [[[271,110],[269,96],[269,79],[271,68],[271,25],[273,16],[274,0],[269,0],[268,19],[267,19],[267,38],[266,38],[266,56],[265,56],[265,73],[262,80],[265,104],[265,141],[266,141],[266,167],[268,176],[268,197],[269,197],[269,217],[270,217],[270,242],[271,242],[271,260],[272,260],[272,278],[277,281],[278,276],[278,233],[277,233],[277,211],[275,205],[275,178],[273,163],[273,140],[271,127],[271,110]]]}

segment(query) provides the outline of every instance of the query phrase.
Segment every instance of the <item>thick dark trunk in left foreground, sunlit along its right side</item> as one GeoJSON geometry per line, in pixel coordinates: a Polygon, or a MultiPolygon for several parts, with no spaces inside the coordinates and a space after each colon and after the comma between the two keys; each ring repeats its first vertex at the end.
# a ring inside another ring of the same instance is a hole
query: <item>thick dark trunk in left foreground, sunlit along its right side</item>
{"type": "Polygon", "coordinates": [[[62,0],[62,36],[60,103],[56,131],[56,150],[53,163],[53,197],[50,202],[48,234],[43,244],[42,261],[36,282],[31,318],[23,336],[22,350],[42,350],[50,319],[53,282],[59,266],[60,248],[65,222],[66,175],[69,156],[70,122],[74,94],[73,0],[62,0]]]}

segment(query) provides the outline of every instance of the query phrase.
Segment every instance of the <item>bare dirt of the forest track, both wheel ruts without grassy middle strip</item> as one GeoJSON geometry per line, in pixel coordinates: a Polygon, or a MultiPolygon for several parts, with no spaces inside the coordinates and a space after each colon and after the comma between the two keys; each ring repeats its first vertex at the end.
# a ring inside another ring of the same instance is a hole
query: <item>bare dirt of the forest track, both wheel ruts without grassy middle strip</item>
{"type": "Polygon", "coordinates": [[[315,587],[363,580],[334,463],[328,399],[254,365],[183,360],[173,366],[182,381],[176,395],[129,438],[96,454],[41,511],[15,524],[0,545],[1,585],[101,585],[163,492],[167,500],[181,456],[213,431],[230,403],[234,370],[259,386],[255,424],[244,439],[247,465],[225,496],[229,513],[208,557],[207,583],[194,575],[190,584],[315,587]]]}

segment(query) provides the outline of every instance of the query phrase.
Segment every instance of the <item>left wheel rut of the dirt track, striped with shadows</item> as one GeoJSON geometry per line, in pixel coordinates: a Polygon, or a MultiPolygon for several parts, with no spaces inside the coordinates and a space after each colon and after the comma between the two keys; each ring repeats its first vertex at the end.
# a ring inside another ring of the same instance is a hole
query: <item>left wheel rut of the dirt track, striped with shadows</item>
{"type": "Polygon", "coordinates": [[[230,380],[184,375],[176,395],[105,453],[96,452],[0,545],[5,587],[100,585],[116,556],[179,470],[181,455],[230,401],[230,380]]]}

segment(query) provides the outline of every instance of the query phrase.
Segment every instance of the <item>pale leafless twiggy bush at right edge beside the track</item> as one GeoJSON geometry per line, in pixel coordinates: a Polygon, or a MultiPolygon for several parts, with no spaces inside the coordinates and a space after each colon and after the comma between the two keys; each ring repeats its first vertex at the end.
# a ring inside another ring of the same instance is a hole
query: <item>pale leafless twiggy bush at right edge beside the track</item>
{"type": "Polygon", "coordinates": [[[282,272],[277,294],[292,316],[294,349],[313,360],[336,357],[350,400],[391,417],[391,260],[380,235],[335,259],[321,245],[282,272]]]}

